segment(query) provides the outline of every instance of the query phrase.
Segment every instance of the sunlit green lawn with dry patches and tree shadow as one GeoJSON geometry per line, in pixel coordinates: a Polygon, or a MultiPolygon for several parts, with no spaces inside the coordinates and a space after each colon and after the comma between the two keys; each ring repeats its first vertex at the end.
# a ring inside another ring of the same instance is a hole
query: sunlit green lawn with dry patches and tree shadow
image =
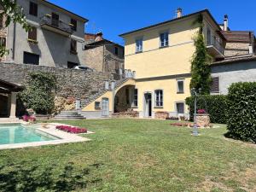
{"type": "Polygon", "coordinates": [[[171,121],[63,121],[95,131],[85,143],[0,151],[0,191],[256,191],[256,147],[171,121]]]}

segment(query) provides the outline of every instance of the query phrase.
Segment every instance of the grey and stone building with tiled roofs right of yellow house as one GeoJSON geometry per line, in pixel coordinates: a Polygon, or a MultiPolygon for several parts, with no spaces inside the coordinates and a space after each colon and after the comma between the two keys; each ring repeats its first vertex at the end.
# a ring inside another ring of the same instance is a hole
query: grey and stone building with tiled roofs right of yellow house
{"type": "Polygon", "coordinates": [[[226,39],[224,59],[214,61],[212,68],[212,95],[228,94],[231,84],[256,82],[256,40],[253,31],[232,31],[224,16],[221,33],[226,39]]]}

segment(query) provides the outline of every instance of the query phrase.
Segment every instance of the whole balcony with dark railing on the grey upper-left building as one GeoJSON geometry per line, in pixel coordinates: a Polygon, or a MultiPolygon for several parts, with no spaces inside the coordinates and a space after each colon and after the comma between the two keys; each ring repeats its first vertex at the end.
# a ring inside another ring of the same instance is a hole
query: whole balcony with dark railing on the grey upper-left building
{"type": "Polygon", "coordinates": [[[64,23],[61,20],[54,20],[50,15],[44,15],[41,18],[40,24],[42,28],[51,32],[59,33],[66,37],[69,37],[73,33],[73,30],[69,24],[64,23]]]}

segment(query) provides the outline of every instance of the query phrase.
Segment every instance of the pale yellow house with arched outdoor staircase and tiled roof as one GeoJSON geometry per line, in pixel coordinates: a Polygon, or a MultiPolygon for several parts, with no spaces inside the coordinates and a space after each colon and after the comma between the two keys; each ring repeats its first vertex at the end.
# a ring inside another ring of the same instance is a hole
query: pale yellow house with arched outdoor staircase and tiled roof
{"type": "Polygon", "coordinates": [[[183,16],[182,10],[177,9],[177,18],[173,20],[120,35],[125,39],[126,76],[131,71],[131,78],[91,102],[83,111],[108,116],[132,108],[141,118],[154,118],[159,112],[187,116],[185,98],[190,96],[193,38],[199,30],[196,21],[200,15],[209,54],[215,60],[224,58],[222,29],[210,12],[205,9],[183,16]],[[96,105],[101,108],[96,109],[96,105]]]}

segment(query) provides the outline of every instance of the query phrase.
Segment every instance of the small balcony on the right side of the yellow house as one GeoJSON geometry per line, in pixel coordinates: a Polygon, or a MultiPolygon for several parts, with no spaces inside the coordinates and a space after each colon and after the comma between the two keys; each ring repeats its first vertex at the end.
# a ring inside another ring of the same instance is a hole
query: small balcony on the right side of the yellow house
{"type": "Polygon", "coordinates": [[[216,37],[207,38],[207,50],[208,53],[214,58],[224,58],[224,46],[216,37]]]}

